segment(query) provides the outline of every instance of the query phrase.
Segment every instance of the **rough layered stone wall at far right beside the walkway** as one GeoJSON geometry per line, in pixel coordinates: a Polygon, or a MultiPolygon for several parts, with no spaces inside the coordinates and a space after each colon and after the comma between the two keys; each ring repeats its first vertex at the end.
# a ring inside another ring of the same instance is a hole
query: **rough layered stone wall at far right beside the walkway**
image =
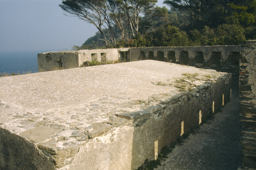
{"type": "Polygon", "coordinates": [[[240,126],[242,166],[256,169],[256,41],[241,44],[240,126]]]}

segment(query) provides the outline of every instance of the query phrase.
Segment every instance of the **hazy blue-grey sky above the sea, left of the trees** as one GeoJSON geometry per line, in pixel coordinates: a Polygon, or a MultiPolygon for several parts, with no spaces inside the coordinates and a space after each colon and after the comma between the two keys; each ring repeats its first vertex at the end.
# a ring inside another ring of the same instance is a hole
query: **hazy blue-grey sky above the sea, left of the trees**
{"type": "MultiPolygon", "coordinates": [[[[164,6],[164,0],[157,5],[164,6]]],[[[95,35],[97,28],[64,15],[62,0],[0,0],[0,51],[70,50],[95,35]]]]}

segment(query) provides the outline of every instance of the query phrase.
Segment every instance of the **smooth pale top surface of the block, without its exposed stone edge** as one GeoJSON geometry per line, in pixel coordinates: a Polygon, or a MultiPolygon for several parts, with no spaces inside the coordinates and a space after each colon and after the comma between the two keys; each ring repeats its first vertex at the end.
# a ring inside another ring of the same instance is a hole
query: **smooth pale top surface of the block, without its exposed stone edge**
{"type": "Polygon", "coordinates": [[[115,104],[146,100],[153,94],[180,93],[173,84],[177,78],[184,77],[183,73],[197,73],[198,78],[203,78],[203,75],[217,72],[144,60],[1,77],[0,122],[8,124],[16,132],[32,128],[17,128],[20,120],[27,120],[31,115],[39,119],[47,117],[54,120],[58,117],[70,121],[71,114],[86,113],[80,115],[83,122],[88,117],[90,123],[104,122],[108,119],[108,112],[111,112],[109,105],[114,109],[115,104]],[[155,85],[157,82],[172,85],[155,85]],[[101,103],[107,109],[99,114],[95,106],[101,103]],[[91,115],[95,113],[97,118],[92,119],[91,115]]]}

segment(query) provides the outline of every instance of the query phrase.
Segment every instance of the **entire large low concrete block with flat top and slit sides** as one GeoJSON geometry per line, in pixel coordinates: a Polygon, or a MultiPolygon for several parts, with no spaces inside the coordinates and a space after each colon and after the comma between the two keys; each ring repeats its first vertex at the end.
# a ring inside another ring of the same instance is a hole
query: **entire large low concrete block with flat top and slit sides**
{"type": "Polygon", "coordinates": [[[137,169],[230,89],[230,73],[153,60],[1,77],[0,169],[137,169]]]}

